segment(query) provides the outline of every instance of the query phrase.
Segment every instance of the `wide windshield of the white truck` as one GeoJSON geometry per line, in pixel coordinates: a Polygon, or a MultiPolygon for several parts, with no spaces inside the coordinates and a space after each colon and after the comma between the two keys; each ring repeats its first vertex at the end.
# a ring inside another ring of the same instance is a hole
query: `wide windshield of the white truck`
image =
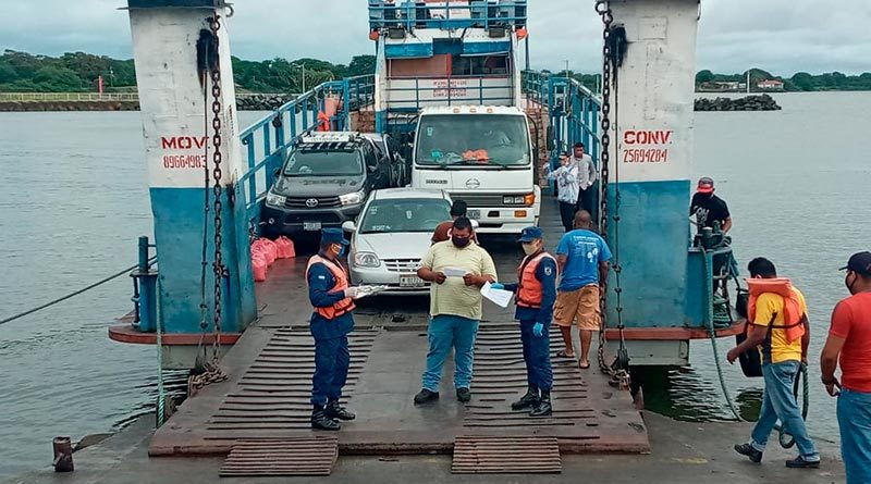
{"type": "Polygon", "coordinates": [[[526,119],[502,114],[420,117],[415,160],[421,165],[524,166],[531,160],[526,119]]]}

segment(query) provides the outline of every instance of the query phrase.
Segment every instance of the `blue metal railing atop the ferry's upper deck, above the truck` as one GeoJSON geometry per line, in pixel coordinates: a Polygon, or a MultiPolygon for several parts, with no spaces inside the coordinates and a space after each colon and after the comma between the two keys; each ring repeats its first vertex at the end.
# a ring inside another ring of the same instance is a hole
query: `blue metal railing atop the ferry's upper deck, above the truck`
{"type": "Polygon", "coordinates": [[[527,22],[526,0],[469,0],[462,5],[433,5],[421,0],[405,2],[369,1],[371,30],[415,28],[523,27],[527,22]]]}

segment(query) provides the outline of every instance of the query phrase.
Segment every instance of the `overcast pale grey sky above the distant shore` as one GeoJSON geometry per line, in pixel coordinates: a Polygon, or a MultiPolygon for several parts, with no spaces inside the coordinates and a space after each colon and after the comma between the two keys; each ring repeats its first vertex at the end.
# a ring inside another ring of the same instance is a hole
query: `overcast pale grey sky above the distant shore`
{"type": "MultiPolygon", "coordinates": [[[[3,0],[0,49],[131,57],[125,0],[3,0]]],[[[598,72],[601,24],[592,0],[529,0],[532,67],[598,72]]],[[[704,0],[699,69],[871,71],[871,1],[704,0]]],[[[232,49],[244,59],[369,53],[365,0],[235,0],[232,49]],[[293,8],[291,8],[293,5],[293,8]]]]}

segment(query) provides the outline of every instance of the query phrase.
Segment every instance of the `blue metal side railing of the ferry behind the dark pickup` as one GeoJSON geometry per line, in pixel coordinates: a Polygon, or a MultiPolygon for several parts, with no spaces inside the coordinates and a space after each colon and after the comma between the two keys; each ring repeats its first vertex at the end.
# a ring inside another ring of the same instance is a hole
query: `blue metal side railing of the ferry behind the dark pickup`
{"type": "Polygon", "coordinates": [[[375,76],[323,83],[240,134],[248,170],[238,179],[236,196],[244,197],[248,221],[255,227],[259,224],[261,201],[274,182],[272,174],[281,167],[287,150],[303,135],[318,127],[318,115],[324,112],[328,99],[339,104],[335,114],[330,116],[330,129],[346,131],[351,126],[351,113],[375,102],[375,76]]]}

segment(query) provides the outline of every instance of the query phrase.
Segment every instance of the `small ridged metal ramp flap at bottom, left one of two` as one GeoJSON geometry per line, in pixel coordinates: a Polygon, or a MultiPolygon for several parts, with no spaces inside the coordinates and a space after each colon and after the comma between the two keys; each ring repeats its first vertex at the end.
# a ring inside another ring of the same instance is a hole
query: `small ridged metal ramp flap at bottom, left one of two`
{"type": "Polygon", "coordinates": [[[221,477],[330,475],[339,458],[335,436],[238,440],[230,450],[221,477]]]}

